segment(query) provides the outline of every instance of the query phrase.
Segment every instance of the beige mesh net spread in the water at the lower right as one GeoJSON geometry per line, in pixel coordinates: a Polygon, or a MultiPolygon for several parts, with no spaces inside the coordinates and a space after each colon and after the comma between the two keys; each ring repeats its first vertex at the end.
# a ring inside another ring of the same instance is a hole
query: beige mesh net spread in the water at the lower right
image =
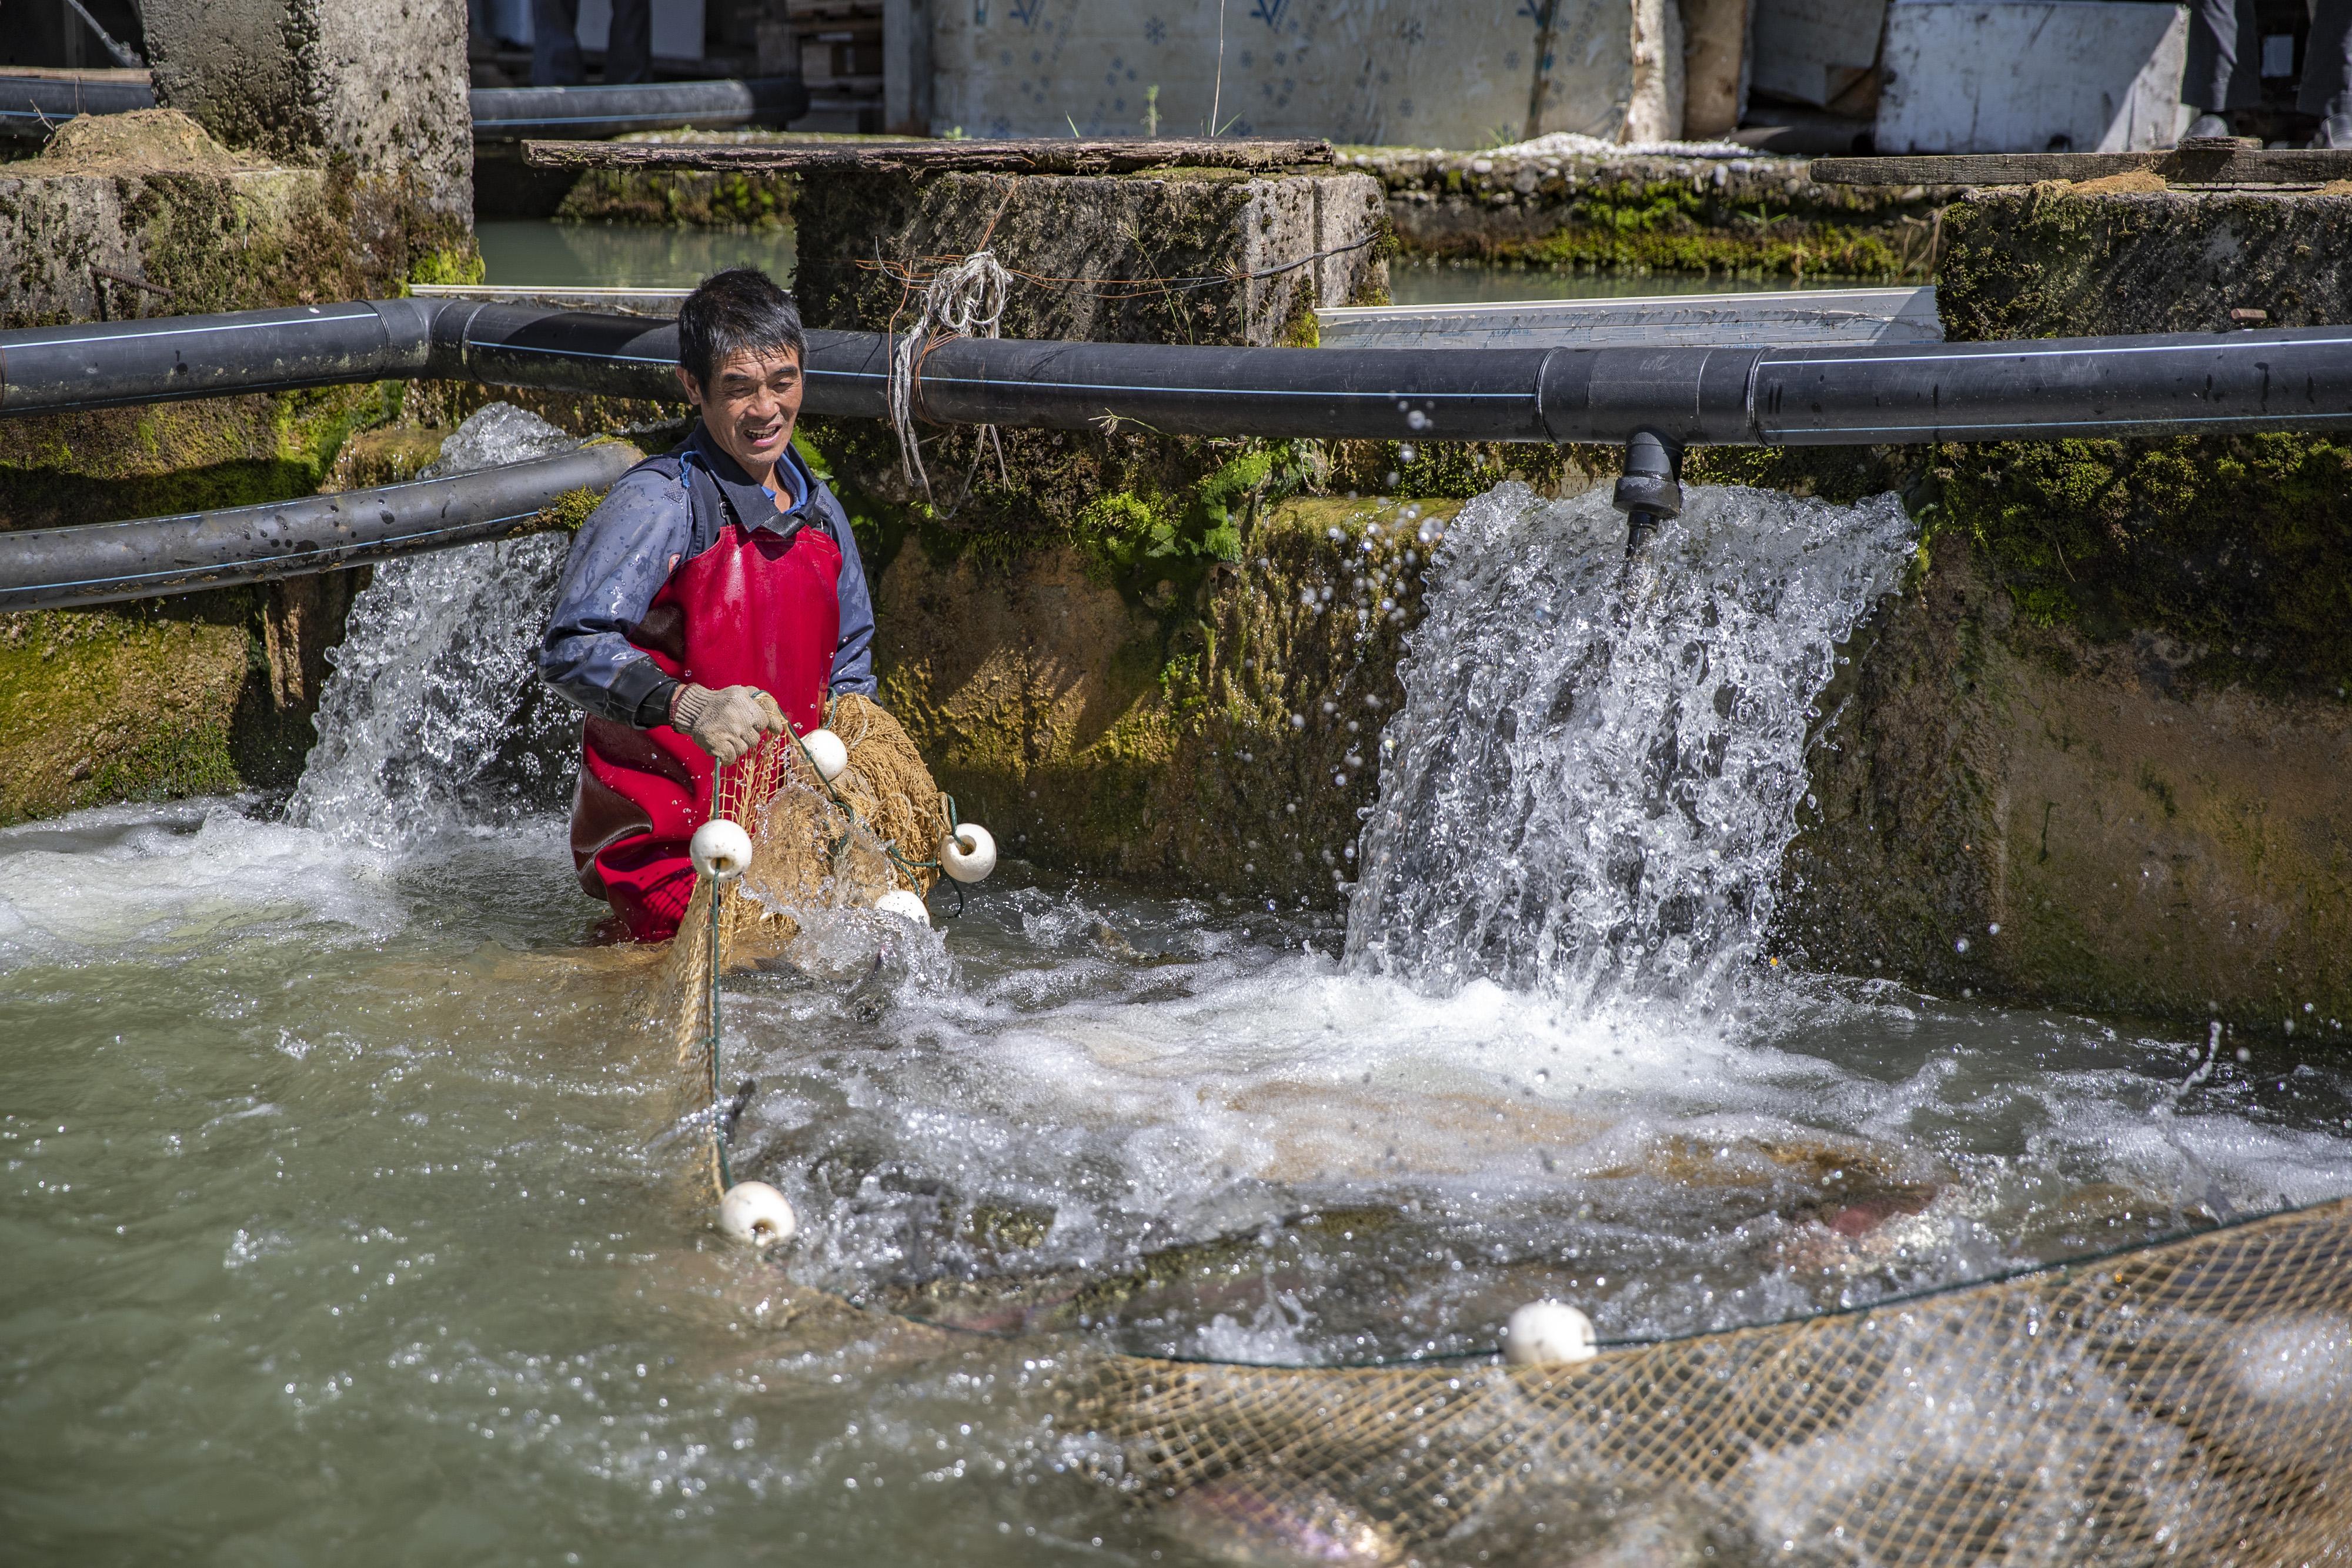
{"type": "Polygon", "coordinates": [[[2331,1563],[2352,1201],[1581,1368],[1115,1356],[1080,1410],[1322,1561],[2331,1563]]]}

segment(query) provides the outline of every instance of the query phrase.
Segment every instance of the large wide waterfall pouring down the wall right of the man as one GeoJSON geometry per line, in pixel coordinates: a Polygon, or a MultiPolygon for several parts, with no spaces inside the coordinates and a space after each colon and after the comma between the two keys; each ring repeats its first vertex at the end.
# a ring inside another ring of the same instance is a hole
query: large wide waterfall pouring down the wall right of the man
{"type": "Polygon", "coordinates": [[[1837,644],[1910,545],[1893,496],[1700,487],[1635,559],[1606,489],[1463,508],[1381,741],[1352,964],[1715,997],[1771,919],[1837,644]]]}

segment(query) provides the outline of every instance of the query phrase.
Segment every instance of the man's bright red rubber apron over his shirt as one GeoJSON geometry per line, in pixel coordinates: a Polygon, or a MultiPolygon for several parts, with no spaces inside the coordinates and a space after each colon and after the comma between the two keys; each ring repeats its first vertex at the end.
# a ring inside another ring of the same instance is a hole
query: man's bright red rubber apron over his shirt
{"type": "MultiPolygon", "coordinates": [[[[666,675],[699,686],[757,686],[793,729],[826,719],[842,635],[842,550],[821,527],[746,529],[677,567],[630,630],[666,675]]],[[[640,943],[661,943],[694,896],[687,839],[710,820],[717,764],[682,731],[588,719],[572,802],[572,865],[640,943]]]]}

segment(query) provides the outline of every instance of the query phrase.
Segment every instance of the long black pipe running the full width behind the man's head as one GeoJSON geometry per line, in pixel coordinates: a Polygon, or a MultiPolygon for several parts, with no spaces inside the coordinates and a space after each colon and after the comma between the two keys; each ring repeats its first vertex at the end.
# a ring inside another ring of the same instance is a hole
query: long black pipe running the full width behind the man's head
{"type": "MultiPolygon", "coordinates": [[[[362,301],[0,334],[0,416],[336,381],[675,397],[677,329],[477,301],[362,301]]],[[[882,416],[889,343],[809,334],[811,414],[882,416]]],[[[1185,348],[955,339],[934,423],[1162,435],[1842,447],[2338,430],[2352,327],[1898,348],[1185,348]]]]}

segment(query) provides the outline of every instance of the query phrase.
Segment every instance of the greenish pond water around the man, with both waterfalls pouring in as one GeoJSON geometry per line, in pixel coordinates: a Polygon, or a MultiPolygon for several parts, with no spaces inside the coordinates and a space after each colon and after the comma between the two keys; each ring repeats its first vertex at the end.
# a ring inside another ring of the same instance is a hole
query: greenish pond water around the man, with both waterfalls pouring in
{"type": "Polygon", "coordinates": [[[1385,1561],[1138,1512],[1061,1389],[1482,1354],[1541,1293],[1769,1321],[2345,1190],[2326,1058],[1757,957],[1900,508],[1696,491],[1646,564],[1604,498],[1383,517],[1437,583],[1350,919],[1023,863],[931,931],[811,917],[727,983],[776,1260],[708,1229],[649,964],[572,884],[550,541],[379,569],[292,804],[0,832],[12,1561],[1385,1561]]]}

